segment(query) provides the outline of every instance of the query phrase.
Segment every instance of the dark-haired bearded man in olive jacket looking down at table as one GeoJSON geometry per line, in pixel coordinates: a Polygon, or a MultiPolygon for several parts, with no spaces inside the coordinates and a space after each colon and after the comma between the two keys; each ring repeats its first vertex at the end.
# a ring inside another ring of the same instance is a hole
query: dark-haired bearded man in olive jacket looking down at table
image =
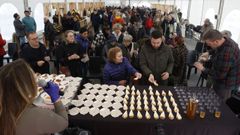
{"type": "Polygon", "coordinates": [[[173,55],[170,47],[164,45],[160,31],[152,32],[150,41],[140,51],[140,68],[148,81],[155,85],[167,85],[173,69],[173,55]]]}

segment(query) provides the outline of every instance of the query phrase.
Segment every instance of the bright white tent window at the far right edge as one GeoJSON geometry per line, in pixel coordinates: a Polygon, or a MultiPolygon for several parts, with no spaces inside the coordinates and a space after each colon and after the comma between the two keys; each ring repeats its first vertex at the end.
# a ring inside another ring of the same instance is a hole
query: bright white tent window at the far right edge
{"type": "Polygon", "coordinates": [[[232,39],[236,42],[239,40],[240,34],[240,10],[231,11],[224,19],[223,25],[220,30],[229,30],[232,33],[232,39]]]}

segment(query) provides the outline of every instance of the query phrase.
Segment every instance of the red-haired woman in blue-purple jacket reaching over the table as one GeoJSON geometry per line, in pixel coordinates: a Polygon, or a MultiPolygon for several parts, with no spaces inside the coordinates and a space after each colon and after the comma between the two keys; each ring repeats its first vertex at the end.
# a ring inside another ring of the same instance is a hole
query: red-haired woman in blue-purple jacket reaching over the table
{"type": "Polygon", "coordinates": [[[122,50],[119,47],[111,48],[108,51],[108,62],[103,71],[104,83],[126,85],[131,75],[135,76],[135,80],[142,77],[142,74],[132,67],[127,58],[122,56],[122,50]]]}

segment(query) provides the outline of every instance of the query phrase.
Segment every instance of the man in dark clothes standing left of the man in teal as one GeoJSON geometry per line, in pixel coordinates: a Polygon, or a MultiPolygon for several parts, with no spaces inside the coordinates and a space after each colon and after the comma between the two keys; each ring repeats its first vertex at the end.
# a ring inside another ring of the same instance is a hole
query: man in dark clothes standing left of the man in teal
{"type": "Polygon", "coordinates": [[[15,32],[16,32],[17,38],[19,40],[20,47],[22,47],[22,45],[25,44],[25,42],[26,42],[26,40],[25,40],[25,25],[21,22],[20,16],[17,13],[15,13],[13,15],[13,17],[15,19],[13,22],[15,32]]]}

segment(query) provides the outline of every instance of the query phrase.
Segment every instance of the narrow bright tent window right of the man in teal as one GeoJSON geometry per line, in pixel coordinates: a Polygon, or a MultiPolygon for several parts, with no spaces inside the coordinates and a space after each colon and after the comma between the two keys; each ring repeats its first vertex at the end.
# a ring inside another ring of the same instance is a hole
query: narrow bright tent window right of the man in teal
{"type": "Polygon", "coordinates": [[[43,12],[43,4],[38,3],[34,9],[34,19],[37,23],[37,31],[41,31],[44,29],[44,12],[43,12]]]}

